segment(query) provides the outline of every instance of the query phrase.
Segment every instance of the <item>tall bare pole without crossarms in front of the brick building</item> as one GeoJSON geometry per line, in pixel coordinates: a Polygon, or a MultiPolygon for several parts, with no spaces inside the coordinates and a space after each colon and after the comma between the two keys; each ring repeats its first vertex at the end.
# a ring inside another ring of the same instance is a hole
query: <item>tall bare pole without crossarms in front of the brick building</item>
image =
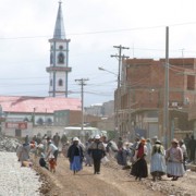
{"type": "Polygon", "coordinates": [[[164,114],[163,114],[163,134],[166,148],[168,148],[170,135],[169,127],[169,27],[166,28],[166,65],[164,65],[164,114]]]}

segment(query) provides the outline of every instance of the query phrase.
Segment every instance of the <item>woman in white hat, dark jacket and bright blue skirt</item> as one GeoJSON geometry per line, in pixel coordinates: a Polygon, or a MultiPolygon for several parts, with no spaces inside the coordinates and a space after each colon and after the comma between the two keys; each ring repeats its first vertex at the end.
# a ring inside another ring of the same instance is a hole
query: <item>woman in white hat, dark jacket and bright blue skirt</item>
{"type": "Polygon", "coordinates": [[[83,169],[83,148],[78,144],[79,139],[77,137],[73,138],[73,144],[69,147],[68,158],[70,160],[70,170],[74,174],[83,169]]]}

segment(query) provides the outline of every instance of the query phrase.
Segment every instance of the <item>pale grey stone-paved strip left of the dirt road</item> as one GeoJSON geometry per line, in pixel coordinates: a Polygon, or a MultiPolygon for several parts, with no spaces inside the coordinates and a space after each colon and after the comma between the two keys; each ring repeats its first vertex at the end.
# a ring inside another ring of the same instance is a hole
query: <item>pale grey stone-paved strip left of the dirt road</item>
{"type": "Polygon", "coordinates": [[[0,196],[39,196],[39,175],[21,167],[15,152],[0,151],[0,196]]]}

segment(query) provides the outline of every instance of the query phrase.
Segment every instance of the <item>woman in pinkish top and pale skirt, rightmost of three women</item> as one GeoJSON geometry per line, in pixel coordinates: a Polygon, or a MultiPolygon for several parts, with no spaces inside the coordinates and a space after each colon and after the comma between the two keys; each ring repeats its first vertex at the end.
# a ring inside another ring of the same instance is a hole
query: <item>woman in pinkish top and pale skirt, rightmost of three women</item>
{"type": "Polygon", "coordinates": [[[177,181],[184,175],[183,152],[179,147],[179,142],[174,138],[171,147],[167,150],[167,174],[172,177],[172,181],[177,181]]]}

